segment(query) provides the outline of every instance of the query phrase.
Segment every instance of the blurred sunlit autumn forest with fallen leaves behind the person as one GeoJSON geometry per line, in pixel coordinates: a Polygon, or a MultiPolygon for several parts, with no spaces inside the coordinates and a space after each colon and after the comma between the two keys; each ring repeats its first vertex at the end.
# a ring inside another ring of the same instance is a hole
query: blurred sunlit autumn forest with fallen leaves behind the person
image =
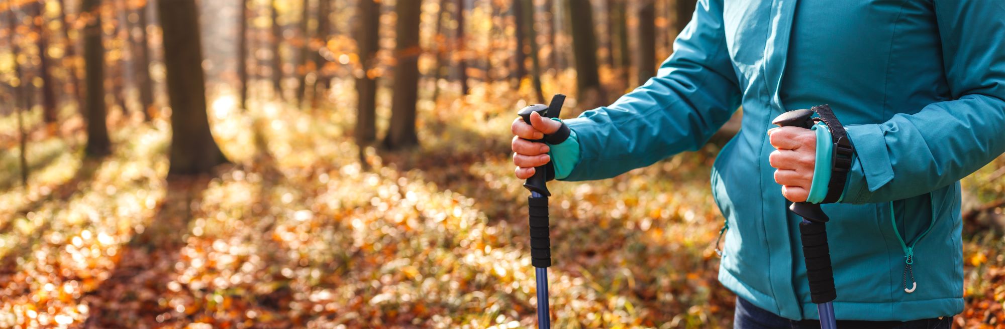
{"type": "MultiPolygon", "coordinates": [[[[4,0],[0,327],[534,327],[514,114],[616,99],[693,8],[4,0]]],[[[709,172],[733,122],[551,184],[557,328],[732,325],[709,172]]],[[[1005,157],[964,187],[955,325],[1002,327],[1005,157]]]]}

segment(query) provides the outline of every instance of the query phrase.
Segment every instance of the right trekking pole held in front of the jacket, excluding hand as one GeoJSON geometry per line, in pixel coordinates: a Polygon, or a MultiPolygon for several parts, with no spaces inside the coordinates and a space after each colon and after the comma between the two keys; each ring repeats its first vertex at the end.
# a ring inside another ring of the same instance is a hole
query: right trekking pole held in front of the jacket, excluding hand
{"type": "MultiPolygon", "coordinates": [[[[827,110],[829,112],[829,107],[827,110]]],[[[809,129],[816,124],[811,116],[813,110],[797,109],[779,115],[771,123],[809,129]]],[[[820,313],[820,328],[836,329],[834,305],[831,301],[837,294],[834,290],[834,271],[830,266],[825,224],[830,218],[820,209],[819,204],[793,203],[789,210],[803,218],[803,222],[799,224],[799,233],[803,243],[803,257],[806,259],[806,277],[810,282],[810,297],[817,304],[817,312],[820,313]]]]}

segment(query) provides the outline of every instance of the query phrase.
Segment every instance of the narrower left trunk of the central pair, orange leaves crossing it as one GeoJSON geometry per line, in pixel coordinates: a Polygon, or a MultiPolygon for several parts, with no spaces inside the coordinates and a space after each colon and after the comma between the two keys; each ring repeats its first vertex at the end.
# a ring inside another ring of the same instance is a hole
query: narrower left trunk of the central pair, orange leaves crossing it
{"type": "Polygon", "coordinates": [[[369,144],[377,138],[377,50],[380,49],[380,3],[375,0],[359,0],[356,17],[358,28],[356,43],[360,49],[360,65],[363,73],[356,78],[358,95],[356,114],[356,143],[369,144]]]}

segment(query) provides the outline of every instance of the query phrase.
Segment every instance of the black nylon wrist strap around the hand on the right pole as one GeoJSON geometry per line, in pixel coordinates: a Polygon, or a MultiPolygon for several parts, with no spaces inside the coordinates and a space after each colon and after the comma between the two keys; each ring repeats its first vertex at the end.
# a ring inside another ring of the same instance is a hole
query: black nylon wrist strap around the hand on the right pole
{"type": "Polygon", "coordinates": [[[841,193],[844,192],[844,183],[848,178],[848,171],[851,170],[851,154],[854,152],[854,147],[851,145],[851,140],[848,139],[848,132],[834,115],[830,105],[817,105],[811,109],[817,113],[820,120],[827,124],[834,140],[830,182],[827,183],[827,196],[821,202],[821,204],[833,204],[841,198],[841,193]]]}

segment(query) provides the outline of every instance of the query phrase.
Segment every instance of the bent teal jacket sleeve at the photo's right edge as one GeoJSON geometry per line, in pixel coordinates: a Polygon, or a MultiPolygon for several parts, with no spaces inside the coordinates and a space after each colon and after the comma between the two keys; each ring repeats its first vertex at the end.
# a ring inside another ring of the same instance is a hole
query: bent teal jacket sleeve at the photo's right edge
{"type": "Polygon", "coordinates": [[[900,200],[953,184],[1005,151],[1005,4],[935,1],[954,100],[847,127],[856,156],[842,202],[900,200]]]}

